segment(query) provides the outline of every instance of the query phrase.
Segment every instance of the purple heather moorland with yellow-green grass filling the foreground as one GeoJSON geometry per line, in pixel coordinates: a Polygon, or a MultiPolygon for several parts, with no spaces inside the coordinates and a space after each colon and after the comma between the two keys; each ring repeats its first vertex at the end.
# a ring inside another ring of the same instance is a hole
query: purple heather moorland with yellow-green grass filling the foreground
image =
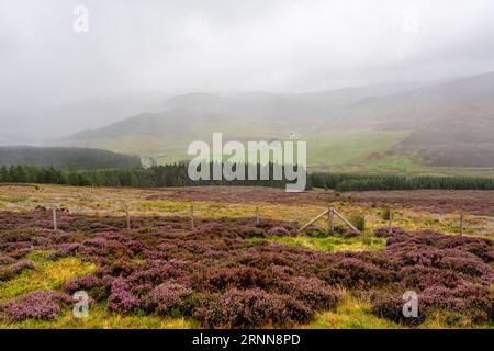
{"type": "Polygon", "coordinates": [[[3,185],[0,328],[493,328],[493,201],[3,185]],[[329,203],[362,235],[339,220],[328,235],[326,218],[297,233],[329,203]],[[77,291],[90,296],[87,318],[72,316],[77,291]],[[418,294],[417,318],[403,317],[405,291],[418,294]]]}

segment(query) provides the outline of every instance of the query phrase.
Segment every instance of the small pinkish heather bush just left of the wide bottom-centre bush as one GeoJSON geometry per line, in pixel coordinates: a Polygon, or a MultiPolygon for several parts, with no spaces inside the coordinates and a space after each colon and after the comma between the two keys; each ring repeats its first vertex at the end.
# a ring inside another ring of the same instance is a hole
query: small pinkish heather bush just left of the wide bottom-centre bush
{"type": "Polygon", "coordinates": [[[148,312],[156,312],[164,316],[179,316],[184,312],[183,309],[187,309],[186,297],[191,294],[190,287],[167,282],[155,287],[145,297],[144,305],[148,312]]]}

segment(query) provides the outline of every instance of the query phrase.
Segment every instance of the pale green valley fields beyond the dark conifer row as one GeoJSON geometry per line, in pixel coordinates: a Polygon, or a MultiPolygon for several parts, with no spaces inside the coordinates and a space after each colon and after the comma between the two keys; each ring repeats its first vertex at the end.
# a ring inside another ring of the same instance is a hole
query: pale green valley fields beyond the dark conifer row
{"type": "MultiPolygon", "coordinates": [[[[285,134],[266,131],[251,124],[234,125],[204,123],[197,133],[181,132],[172,137],[127,135],[80,141],[87,147],[100,147],[115,152],[153,157],[158,165],[191,159],[187,148],[191,141],[212,144],[212,134],[223,132],[226,140],[272,140],[285,134]]],[[[420,165],[419,158],[400,150],[411,131],[339,129],[302,134],[307,141],[307,166],[310,171],[348,173],[400,173],[409,176],[484,176],[493,177],[494,169],[449,168],[420,165]]]]}

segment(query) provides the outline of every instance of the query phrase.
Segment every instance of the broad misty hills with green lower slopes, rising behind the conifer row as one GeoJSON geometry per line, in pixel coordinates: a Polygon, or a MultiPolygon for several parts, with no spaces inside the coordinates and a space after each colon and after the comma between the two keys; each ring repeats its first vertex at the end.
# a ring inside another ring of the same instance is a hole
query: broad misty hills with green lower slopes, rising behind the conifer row
{"type": "Polygon", "coordinates": [[[210,140],[216,131],[240,140],[294,132],[311,140],[308,158],[317,167],[494,168],[493,97],[494,72],[300,94],[198,92],[167,100],[162,112],[85,131],[65,143],[173,161],[187,158],[189,143],[210,140]]]}

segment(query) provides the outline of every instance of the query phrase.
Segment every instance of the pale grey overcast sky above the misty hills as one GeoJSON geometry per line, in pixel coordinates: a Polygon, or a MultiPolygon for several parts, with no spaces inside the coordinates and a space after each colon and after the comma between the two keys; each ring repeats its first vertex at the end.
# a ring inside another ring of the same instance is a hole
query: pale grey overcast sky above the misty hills
{"type": "Polygon", "coordinates": [[[492,0],[0,0],[0,138],[101,126],[192,91],[494,71],[493,13],[492,0]]]}

